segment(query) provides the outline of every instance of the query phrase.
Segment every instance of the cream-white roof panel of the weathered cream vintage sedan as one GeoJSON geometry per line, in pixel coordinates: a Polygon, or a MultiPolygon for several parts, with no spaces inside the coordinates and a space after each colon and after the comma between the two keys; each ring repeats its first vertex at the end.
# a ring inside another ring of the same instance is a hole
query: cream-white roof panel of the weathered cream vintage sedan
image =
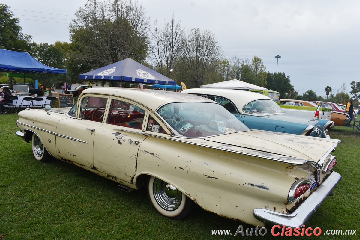
{"type": "Polygon", "coordinates": [[[103,94],[108,96],[124,97],[155,111],[159,106],[170,102],[211,102],[207,98],[184,94],[178,92],[161,91],[153,89],[136,89],[136,88],[88,88],[82,94],[103,94]]]}

